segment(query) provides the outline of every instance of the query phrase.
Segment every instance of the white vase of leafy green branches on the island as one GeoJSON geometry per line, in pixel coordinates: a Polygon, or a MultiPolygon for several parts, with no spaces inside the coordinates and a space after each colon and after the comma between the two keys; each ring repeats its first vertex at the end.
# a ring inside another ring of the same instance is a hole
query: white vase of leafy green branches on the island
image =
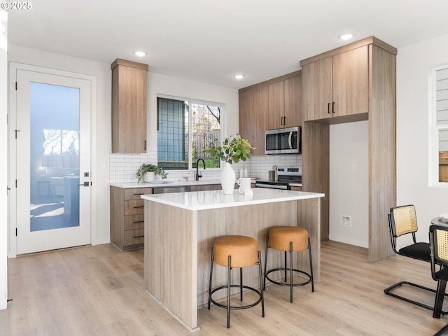
{"type": "Polygon", "coordinates": [[[225,138],[222,146],[207,148],[204,151],[210,153],[215,159],[224,161],[221,170],[221,186],[224,194],[232,194],[235,189],[235,170],[232,168],[232,162],[238,163],[251,158],[251,149],[255,147],[237,133],[236,137],[225,138]]]}

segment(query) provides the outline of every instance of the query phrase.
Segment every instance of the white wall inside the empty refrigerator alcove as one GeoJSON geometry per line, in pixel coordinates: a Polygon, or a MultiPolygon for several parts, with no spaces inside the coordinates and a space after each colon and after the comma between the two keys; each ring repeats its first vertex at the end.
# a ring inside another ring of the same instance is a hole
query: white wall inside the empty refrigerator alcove
{"type": "Polygon", "coordinates": [[[329,239],[369,246],[369,123],[330,125],[329,239]],[[351,226],[342,225],[342,216],[351,226]]]}

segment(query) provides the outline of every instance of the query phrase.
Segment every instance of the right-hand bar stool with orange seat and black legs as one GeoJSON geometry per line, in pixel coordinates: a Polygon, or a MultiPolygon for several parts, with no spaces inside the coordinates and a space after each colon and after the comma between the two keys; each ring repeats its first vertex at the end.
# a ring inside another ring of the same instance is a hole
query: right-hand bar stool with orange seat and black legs
{"type": "Polygon", "coordinates": [[[290,287],[290,299],[293,302],[293,287],[304,286],[311,282],[311,291],[314,292],[314,278],[313,278],[313,263],[311,260],[311,244],[308,231],[304,228],[297,228],[296,226],[274,226],[269,229],[266,236],[266,250],[265,250],[265,283],[263,290],[266,289],[266,279],[280,286],[290,287]],[[285,253],[285,267],[274,268],[267,270],[267,248],[274,248],[285,253]],[[300,269],[293,268],[293,252],[304,251],[308,249],[309,253],[309,273],[300,269]],[[289,267],[287,267],[287,252],[289,252],[289,267]],[[284,271],[284,281],[276,281],[269,277],[272,272],[284,271]],[[302,282],[293,282],[293,272],[301,273],[305,276],[302,282]],[[289,273],[289,281],[288,281],[289,273]]]}

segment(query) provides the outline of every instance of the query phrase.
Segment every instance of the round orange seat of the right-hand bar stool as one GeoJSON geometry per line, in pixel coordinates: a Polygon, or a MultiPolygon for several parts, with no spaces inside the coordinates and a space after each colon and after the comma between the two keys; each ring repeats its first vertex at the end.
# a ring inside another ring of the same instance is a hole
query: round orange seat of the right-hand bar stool
{"type": "Polygon", "coordinates": [[[274,226],[269,229],[269,246],[279,251],[289,251],[290,241],[293,251],[303,251],[308,248],[308,231],[297,226],[274,226]]]}

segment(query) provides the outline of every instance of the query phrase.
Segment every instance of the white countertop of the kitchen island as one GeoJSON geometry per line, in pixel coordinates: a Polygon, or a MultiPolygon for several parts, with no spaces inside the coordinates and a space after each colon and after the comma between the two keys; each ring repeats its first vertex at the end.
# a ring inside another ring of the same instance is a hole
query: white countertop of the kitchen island
{"type": "Polygon", "coordinates": [[[223,190],[194,191],[190,193],[169,193],[142,195],[144,200],[171,205],[188,210],[218,209],[241,207],[244,205],[286,202],[324,197],[322,193],[279,190],[269,188],[252,188],[252,195],[240,194],[235,190],[231,195],[224,195],[223,190]]]}

